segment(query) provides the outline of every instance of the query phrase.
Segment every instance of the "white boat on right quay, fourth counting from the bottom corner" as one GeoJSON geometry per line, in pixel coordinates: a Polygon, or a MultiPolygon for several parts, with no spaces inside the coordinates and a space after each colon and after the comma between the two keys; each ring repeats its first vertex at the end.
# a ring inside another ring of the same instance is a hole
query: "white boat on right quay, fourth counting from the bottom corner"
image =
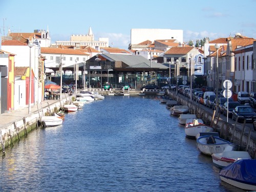
{"type": "Polygon", "coordinates": [[[202,132],[213,132],[211,126],[204,124],[202,119],[187,119],[185,125],[185,134],[187,137],[196,138],[197,134],[202,132]]]}

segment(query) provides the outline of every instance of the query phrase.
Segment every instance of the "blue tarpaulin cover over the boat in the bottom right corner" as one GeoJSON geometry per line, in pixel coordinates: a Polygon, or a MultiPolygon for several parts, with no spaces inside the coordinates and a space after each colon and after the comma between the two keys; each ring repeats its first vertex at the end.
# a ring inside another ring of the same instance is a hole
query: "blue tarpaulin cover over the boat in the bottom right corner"
{"type": "Polygon", "coordinates": [[[241,183],[256,185],[256,160],[238,160],[222,168],[219,175],[241,183]]]}

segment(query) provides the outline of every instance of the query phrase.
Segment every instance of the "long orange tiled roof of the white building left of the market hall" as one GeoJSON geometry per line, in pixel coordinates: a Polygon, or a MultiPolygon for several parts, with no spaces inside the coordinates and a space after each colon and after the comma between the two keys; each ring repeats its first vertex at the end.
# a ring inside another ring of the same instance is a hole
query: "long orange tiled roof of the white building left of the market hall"
{"type": "Polygon", "coordinates": [[[41,47],[41,54],[65,54],[65,55],[89,55],[74,49],[59,49],[59,48],[45,48],[41,47]]]}

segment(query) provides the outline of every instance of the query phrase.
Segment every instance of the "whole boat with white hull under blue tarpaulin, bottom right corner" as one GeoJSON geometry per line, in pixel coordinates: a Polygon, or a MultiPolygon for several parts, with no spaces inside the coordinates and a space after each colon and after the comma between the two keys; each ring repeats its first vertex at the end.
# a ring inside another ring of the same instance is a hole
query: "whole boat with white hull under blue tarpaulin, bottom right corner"
{"type": "Polygon", "coordinates": [[[256,160],[240,159],[222,168],[219,172],[222,181],[235,187],[256,191],[256,160]]]}

